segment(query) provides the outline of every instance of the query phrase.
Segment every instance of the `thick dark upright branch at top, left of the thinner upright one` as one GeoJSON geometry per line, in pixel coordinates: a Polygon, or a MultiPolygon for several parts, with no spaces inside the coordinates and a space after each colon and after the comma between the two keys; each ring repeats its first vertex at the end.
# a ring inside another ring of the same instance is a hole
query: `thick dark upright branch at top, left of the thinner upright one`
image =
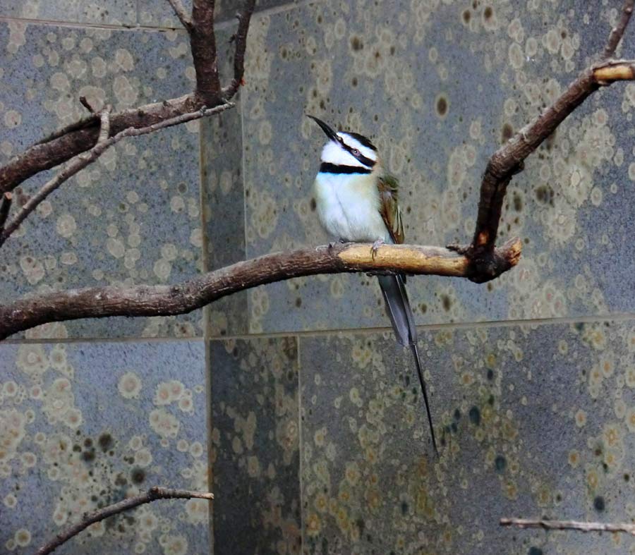
{"type": "Polygon", "coordinates": [[[195,96],[204,106],[220,102],[221,87],[214,36],[214,0],[193,0],[190,47],[196,71],[195,96]]]}

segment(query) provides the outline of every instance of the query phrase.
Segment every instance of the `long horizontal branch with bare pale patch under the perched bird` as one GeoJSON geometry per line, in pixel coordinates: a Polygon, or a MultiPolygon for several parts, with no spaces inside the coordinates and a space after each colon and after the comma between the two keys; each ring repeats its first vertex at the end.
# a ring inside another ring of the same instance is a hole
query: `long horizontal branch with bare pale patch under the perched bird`
{"type": "Polygon", "coordinates": [[[108,316],[167,316],[191,312],[237,291],[298,276],[344,272],[404,272],[487,281],[515,266],[520,240],[495,250],[497,266],[480,276],[471,261],[451,250],[384,245],[373,258],[370,244],[304,248],[238,262],[171,286],[93,287],[44,293],[0,306],[0,339],[47,322],[108,316]]]}

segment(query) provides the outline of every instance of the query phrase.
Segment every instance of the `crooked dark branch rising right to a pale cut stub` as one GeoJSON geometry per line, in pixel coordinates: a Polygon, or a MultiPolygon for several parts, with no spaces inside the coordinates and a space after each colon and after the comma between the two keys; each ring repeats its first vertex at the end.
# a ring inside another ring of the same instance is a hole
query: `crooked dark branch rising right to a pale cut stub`
{"type": "Polygon", "coordinates": [[[588,68],[552,106],[492,155],[480,185],[476,231],[471,245],[473,252],[486,253],[494,248],[507,185],[515,173],[522,171],[526,157],[598,88],[617,80],[632,80],[634,67],[635,61],[612,61],[588,68]]]}

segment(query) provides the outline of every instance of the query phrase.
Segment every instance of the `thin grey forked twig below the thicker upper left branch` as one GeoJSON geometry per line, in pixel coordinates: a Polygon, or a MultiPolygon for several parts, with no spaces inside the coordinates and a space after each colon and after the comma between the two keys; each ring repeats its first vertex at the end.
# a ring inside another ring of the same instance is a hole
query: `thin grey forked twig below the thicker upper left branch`
{"type": "Polygon", "coordinates": [[[129,127],[128,129],[124,129],[120,131],[116,135],[108,138],[109,134],[109,110],[104,109],[99,114],[100,121],[102,122],[102,127],[99,130],[99,138],[97,140],[97,145],[92,147],[88,152],[82,152],[78,154],[76,157],[71,159],[70,162],[64,167],[54,178],[50,181],[47,181],[42,188],[25,203],[25,205],[20,209],[20,212],[16,214],[16,216],[9,221],[6,228],[0,231],[0,247],[4,245],[6,240],[11,236],[11,234],[18,229],[20,224],[27,218],[33,210],[37,208],[40,203],[47,198],[54,190],[59,188],[59,186],[68,181],[69,178],[73,177],[80,170],[84,169],[89,164],[92,164],[97,158],[99,158],[106,150],[108,150],[112,145],[119,142],[121,139],[126,137],[138,137],[139,135],[147,135],[147,133],[153,133],[158,131],[159,129],[164,129],[171,126],[177,126],[181,123],[186,123],[187,121],[193,121],[195,119],[204,118],[206,116],[212,116],[213,114],[219,114],[226,109],[234,107],[234,104],[231,102],[227,102],[226,104],[221,104],[220,106],[216,106],[215,108],[210,109],[202,109],[190,114],[183,114],[181,116],[176,116],[174,118],[170,118],[164,121],[160,121],[159,123],[155,123],[152,126],[142,127],[142,128],[134,128],[129,127]]]}

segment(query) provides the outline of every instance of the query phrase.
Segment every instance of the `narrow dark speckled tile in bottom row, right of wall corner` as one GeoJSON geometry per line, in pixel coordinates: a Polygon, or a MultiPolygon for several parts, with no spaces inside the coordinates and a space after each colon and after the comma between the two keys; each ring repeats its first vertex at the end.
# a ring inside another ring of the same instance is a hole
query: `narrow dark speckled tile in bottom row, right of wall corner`
{"type": "Polygon", "coordinates": [[[214,552],[298,554],[295,338],[211,341],[214,552]]]}

